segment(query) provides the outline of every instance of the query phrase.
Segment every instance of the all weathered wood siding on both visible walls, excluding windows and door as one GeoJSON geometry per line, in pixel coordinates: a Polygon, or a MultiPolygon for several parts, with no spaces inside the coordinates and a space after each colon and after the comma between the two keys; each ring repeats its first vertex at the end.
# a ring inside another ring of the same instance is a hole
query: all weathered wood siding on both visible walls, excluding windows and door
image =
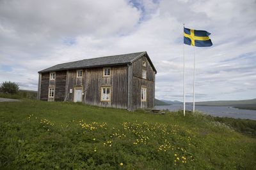
{"type": "Polygon", "coordinates": [[[42,73],[38,91],[41,100],[49,100],[49,87],[54,87],[52,101],[74,101],[74,89],[83,91],[83,103],[102,107],[153,108],[155,96],[155,71],[146,57],[135,60],[129,66],[111,66],[111,74],[103,76],[102,67],[84,68],[82,78],[77,78],[77,70],[56,71],[55,80],[49,80],[49,73],[42,73]],[[143,61],[147,66],[143,66],[143,61]],[[147,71],[147,78],[142,78],[142,71],[147,71]],[[111,88],[111,101],[101,101],[101,87],[111,88]],[[147,101],[141,101],[141,87],[147,88],[147,101]]]}

